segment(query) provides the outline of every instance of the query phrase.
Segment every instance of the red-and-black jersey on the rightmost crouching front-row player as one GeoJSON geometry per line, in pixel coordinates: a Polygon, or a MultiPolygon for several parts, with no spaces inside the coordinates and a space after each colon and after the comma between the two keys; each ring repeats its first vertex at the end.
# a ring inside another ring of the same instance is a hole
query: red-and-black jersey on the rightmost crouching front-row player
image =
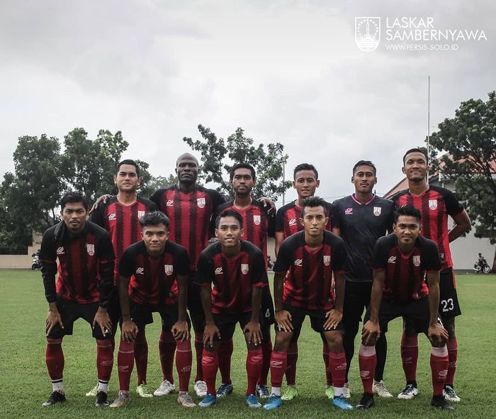
{"type": "Polygon", "coordinates": [[[419,235],[412,251],[405,255],[393,233],[377,240],[372,267],[385,271],[383,298],[402,303],[429,294],[425,273],[441,270],[441,262],[436,243],[432,240],[419,235]]]}

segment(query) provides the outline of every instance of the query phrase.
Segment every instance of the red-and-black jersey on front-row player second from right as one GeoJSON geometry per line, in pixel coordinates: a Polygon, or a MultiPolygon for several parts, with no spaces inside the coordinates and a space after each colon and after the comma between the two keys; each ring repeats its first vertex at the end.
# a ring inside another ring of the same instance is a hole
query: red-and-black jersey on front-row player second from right
{"type": "Polygon", "coordinates": [[[344,274],[346,248],[339,236],[324,231],[322,245],[312,250],[305,242],[305,231],[285,239],[277,255],[274,272],[286,274],[283,301],[308,310],[334,307],[332,272],[344,274]]]}

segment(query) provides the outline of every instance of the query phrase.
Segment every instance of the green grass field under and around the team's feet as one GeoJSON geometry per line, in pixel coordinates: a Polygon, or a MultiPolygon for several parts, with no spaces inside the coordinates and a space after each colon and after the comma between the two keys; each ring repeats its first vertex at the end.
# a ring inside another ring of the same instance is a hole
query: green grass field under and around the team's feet
{"type": "MultiPolygon", "coordinates": [[[[175,396],[143,399],[132,393],[133,403],[121,409],[95,408],[93,398],[84,393],[96,383],[95,343],[89,325],[79,320],[74,335],[64,338],[64,386],[67,403],[52,408],[42,408],[41,403],[50,394],[50,379],[45,367],[45,315],[40,272],[0,271],[0,306],[4,332],[0,351],[0,419],[4,418],[438,418],[464,419],[494,418],[496,401],[492,394],[496,374],[495,301],[496,276],[460,274],[458,296],[463,315],[457,320],[459,351],[456,374],[456,391],[461,403],[455,413],[432,410],[429,401],[432,386],[429,369],[427,338],[419,337],[419,371],[417,381],[420,394],[412,401],[376,398],[376,407],[368,411],[343,413],[330,406],[324,396],[325,375],[322,362],[320,337],[310,330],[308,322],[300,337],[298,360],[298,391],[300,396],[286,402],[274,412],[249,410],[244,406],[246,349],[242,335],[235,335],[235,353],[232,378],[235,392],[220,400],[214,408],[186,410],[176,404],[175,396]],[[186,416],[187,415],[187,416],[186,416]]],[[[388,389],[398,393],[404,386],[399,354],[400,320],[390,324],[388,333],[388,362],[385,382],[388,389]]],[[[158,358],[159,321],[147,328],[150,346],[148,384],[156,389],[162,381],[158,358]]],[[[115,361],[115,365],[117,362],[115,361]]],[[[352,403],[361,396],[358,359],[351,366],[350,386],[352,403]]],[[[135,382],[135,374],[132,378],[135,382]]],[[[133,389],[133,387],[132,387],[133,389]]],[[[190,387],[192,391],[192,386],[190,387]]],[[[114,368],[109,398],[118,393],[117,369],[114,368]]],[[[196,398],[198,401],[198,398],[196,398]]]]}

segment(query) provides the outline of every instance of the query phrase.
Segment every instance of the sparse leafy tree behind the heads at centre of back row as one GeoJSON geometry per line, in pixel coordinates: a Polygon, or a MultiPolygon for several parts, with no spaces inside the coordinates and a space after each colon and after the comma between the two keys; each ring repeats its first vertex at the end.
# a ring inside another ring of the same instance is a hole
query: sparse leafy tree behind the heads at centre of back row
{"type": "Polygon", "coordinates": [[[217,190],[221,194],[234,196],[228,174],[237,162],[252,164],[257,172],[257,183],[252,191],[254,196],[266,196],[276,201],[291,186],[290,181],[282,180],[283,164],[288,160],[288,155],[283,154],[281,143],[270,143],[266,151],[264,145],[255,146],[252,138],[245,137],[242,128],[237,128],[227,141],[217,138],[210,128],[203,125],[198,125],[198,131],[203,140],[184,137],[183,141],[201,153],[200,178],[205,183],[218,184],[217,190]]]}

